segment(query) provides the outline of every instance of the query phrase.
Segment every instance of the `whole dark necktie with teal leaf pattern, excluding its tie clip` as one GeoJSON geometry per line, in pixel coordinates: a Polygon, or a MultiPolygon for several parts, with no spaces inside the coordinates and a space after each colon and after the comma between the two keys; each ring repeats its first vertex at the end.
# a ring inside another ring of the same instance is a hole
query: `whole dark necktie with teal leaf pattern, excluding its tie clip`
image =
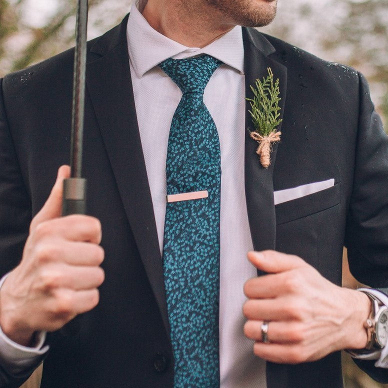
{"type": "Polygon", "coordinates": [[[203,90],[221,62],[209,55],[166,59],[160,67],[183,95],[167,146],[167,194],[208,197],[167,203],[163,268],[174,353],[174,388],[219,387],[219,203],[217,129],[203,90]]]}

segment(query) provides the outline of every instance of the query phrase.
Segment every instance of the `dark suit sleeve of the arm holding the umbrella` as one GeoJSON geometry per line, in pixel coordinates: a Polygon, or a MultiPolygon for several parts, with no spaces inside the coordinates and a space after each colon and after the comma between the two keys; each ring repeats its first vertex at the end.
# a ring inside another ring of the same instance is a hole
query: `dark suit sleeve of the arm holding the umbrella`
{"type": "MultiPolygon", "coordinates": [[[[30,199],[17,162],[0,79],[0,278],[20,261],[30,220],[30,199]]],[[[12,368],[7,367],[7,360],[0,359],[0,388],[18,387],[41,359],[37,357],[17,374],[10,372],[12,368]]]]}

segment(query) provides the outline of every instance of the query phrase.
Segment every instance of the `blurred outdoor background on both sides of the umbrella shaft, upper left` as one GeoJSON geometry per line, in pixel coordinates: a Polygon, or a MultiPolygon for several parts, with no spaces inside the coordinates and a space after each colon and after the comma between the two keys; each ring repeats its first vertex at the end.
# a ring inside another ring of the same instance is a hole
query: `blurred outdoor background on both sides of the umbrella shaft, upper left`
{"type": "MultiPolygon", "coordinates": [[[[44,24],[36,26],[33,17],[29,16],[30,2],[0,0],[0,76],[38,62],[74,44],[76,1],[46,1],[50,7],[54,6],[54,13],[50,15],[47,12],[44,24]]],[[[117,2],[121,3],[118,7],[120,13],[112,15],[108,14],[107,0],[88,1],[92,15],[89,26],[91,25],[94,36],[112,26],[129,11],[130,0],[117,2]],[[107,19],[107,23],[104,23],[104,19],[107,19]]],[[[37,3],[44,4],[42,1],[37,3]]]]}

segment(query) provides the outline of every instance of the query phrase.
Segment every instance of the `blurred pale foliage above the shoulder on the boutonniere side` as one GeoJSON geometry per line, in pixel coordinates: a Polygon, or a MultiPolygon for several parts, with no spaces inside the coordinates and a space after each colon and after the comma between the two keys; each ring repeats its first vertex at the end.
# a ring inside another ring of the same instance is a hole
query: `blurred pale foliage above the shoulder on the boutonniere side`
{"type": "Polygon", "coordinates": [[[388,1],[279,1],[265,32],[329,61],[348,64],[368,79],[388,126],[388,1]]]}

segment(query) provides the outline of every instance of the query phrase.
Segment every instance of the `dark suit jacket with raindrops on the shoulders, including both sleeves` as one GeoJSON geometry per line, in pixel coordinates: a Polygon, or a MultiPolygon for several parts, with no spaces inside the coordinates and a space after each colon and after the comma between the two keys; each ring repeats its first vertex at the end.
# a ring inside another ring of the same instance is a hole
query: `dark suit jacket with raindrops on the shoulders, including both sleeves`
{"type": "MultiPolygon", "coordinates": [[[[49,336],[43,388],[172,387],[162,262],[131,89],[126,19],[88,44],[83,173],[88,213],[102,222],[106,279],[76,336],[49,336]]],[[[271,67],[282,139],[261,167],[246,131],[246,202],[254,248],[303,257],[341,282],[342,246],[362,282],[388,280],[388,139],[365,80],[244,28],[246,94],[271,67]],[[273,190],[335,179],[274,206],[273,190]]],[[[0,274],[19,261],[31,217],[68,163],[73,51],[6,76],[0,94],[0,274]]],[[[157,98],[157,95],[155,95],[157,98]]],[[[225,96],[227,98],[227,96],[225,96]]],[[[222,101],[219,101],[222,103],[222,101]]],[[[246,114],[246,127],[251,127],[246,114]]],[[[233,130],[233,128],[231,128],[233,130]]],[[[388,381],[384,369],[362,363],[388,381]]],[[[0,386],[17,386],[0,366],[0,386]]],[[[23,376],[19,376],[21,379],[23,376]]],[[[341,387],[340,355],[267,365],[268,388],[341,387]]]]}

